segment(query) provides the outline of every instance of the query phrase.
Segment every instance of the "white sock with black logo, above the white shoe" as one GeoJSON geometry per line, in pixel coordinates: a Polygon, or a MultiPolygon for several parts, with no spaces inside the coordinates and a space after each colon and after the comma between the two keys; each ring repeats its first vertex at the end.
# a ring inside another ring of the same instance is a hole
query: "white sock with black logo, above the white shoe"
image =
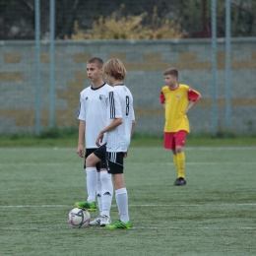
{"type": "Polygon", "coordinates": [[[110,217],[110,208],[113,198],[113,184],[111,177],[112,175],[106,170],[100,171],[102,216],[105,215],[107,217],[110,217]]]}

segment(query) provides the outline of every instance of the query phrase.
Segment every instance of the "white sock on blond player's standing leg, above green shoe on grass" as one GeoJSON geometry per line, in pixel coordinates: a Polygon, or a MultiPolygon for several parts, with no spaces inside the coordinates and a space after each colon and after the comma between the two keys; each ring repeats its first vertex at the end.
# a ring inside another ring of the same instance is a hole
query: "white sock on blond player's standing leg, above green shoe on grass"
{"type": "Polygon", "coordinates": [[[130,220],[128,214],[128,194],[125,187],[115,190],[115,200],[121,222],[128,223],[130,220]]]}

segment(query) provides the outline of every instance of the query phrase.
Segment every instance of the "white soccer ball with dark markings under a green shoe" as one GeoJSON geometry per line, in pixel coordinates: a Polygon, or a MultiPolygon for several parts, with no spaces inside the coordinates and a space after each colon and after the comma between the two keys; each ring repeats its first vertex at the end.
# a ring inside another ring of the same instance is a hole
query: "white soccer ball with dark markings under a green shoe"
{"type": "Polygon", "coordinates": [[[91,216],[86,210],[74,208],[69,213],[68,222],[72,227],[82,228],[90,224],[91,216]]]}

